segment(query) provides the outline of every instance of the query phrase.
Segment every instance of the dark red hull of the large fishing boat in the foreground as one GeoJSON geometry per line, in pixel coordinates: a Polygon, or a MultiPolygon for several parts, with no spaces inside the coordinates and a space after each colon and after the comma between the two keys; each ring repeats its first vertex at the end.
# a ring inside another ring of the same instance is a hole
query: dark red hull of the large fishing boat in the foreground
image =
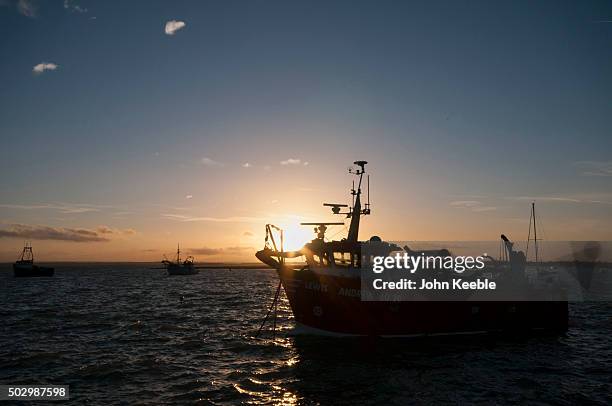
{"type": "Polygon", "coordinates": [[[307,334],[419,336],[566,331],[560,302],[361,301],[360,278],[279,268],[295,320],[307,334]]]}

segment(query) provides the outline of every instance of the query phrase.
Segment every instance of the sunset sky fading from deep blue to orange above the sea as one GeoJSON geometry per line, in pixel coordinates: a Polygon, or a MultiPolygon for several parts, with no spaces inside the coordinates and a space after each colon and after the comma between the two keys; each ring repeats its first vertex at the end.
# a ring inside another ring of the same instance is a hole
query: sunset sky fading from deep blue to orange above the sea
{"type": "MultiPolygon", "coordinates": [[[[0,0],[0,261],[255,261],[266,223],[612,240],[607,1],[0,0]]],[[[330,237],[346,228],[330,229],[330,237]]]]}

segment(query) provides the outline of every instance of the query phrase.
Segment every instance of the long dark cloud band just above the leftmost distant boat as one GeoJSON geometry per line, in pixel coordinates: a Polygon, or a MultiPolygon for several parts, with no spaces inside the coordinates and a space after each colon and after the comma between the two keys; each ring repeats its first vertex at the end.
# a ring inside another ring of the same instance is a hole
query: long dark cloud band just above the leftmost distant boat
{"type": "Polygon", "coordinates": [[[64,228],[41,225],[10,224],[0,229],[0,238],[31,240],[58,240],[71,242],[107,242],[115,235],[131,235],[134,230],[117,230],[99,226],[95,230],[86,228],[64,228]]]}

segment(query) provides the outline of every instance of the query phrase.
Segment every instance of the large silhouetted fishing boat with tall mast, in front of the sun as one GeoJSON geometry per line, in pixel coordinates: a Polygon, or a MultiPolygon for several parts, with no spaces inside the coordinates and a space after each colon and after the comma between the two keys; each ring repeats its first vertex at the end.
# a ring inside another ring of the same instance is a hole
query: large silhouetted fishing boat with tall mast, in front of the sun
{"type": "MultiPolygon", "coordinates": [[[[346,238],[328,241],[325,236],[328,226],[344,225],[343,222],[302,223],[315,226],[316,238],[300,250],[285,251],[283,230],[266,225],[264,248],[256,257],[276,269],[280,278],[277,297],[282,286],[295,317],[296,334],[401,337],[567,330],[568,306],[563,298],[548,301],[364,300],[361,282],[369,272],[365,267],[367,247],[376,244],[387,251],[399,248],[377,236],[359,240],[360,219],[371,214],[369,176],[366,178],[367,203],[363,207],[361,204],[366,164],[366,161],[356,161],[355,168],[349,170],[356,176],[351,189],[352,206],[324,203],[331,207],[333,214],[350,219],[346,238]]],[[[500,269],[506,272],[509,269],[515,273],[512,275],[520,276],[525,272],[525,255],[515,250],[506,236],[502,235],[502,240],[510,266],[500,269]]],[[[419,253],[411,251],[411,254],[419,253]]]]}

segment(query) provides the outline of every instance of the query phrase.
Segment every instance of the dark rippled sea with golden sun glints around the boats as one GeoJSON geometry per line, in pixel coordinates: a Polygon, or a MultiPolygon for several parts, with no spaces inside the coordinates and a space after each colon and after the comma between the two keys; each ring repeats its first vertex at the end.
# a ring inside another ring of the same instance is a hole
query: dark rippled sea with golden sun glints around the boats
{"type": "Polygon", "coordinates": [[[136,266],[0,271],[0,382],[69,384],[73,404],[609,404],[612,305],[574,303],[572,328],[532,338],[255,338],[273,272],[167,277],[136,266]],[[341,395],[340,395],[341,394],[341,395]]]}

